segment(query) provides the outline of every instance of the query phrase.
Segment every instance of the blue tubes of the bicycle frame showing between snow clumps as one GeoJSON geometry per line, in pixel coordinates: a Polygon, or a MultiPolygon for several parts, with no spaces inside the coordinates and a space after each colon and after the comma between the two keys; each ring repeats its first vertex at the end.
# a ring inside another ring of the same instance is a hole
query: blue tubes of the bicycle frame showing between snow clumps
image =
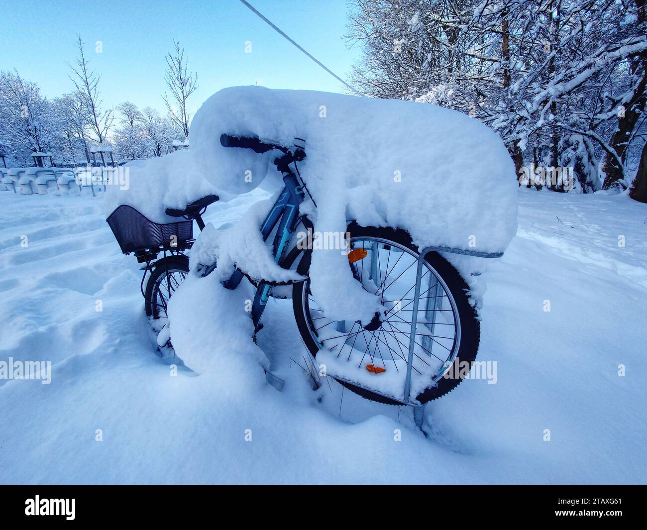
{"type": "MultiPolygon", "coordinates": [[[[283,175],[283,183],[285,184],[283,192],[281,192],[281,195],[279,195],[276,203],[272,206],[269,214],[265,217],[263,225],[261,225],[263,241],[267,241],[270,234],[272,234],[274,228],[278,224],[272,245],[272,248],[274,249],[274,261],[276,261],[278,265],[281,265],[283,262],[285,251],[287,250],[292,234],[294,234],[294,230],[296,230],[296,226],[299,223],[299,205],[305,198],[303,188],[294,173],[289,172],[283,175]]],[[[223,283],[223,285],[225,285],[227,289],[236,289],[241,280],[243,280],[243,276],[243,272],[236,270],[234,271],[234,274],[232,274],[232,276],[223,283]]],[[[267,300],[270,298],[271,292],[272,285],[269,285],[269,283],[260,282],[258,284],[258,289],[256,290],[256,295],[254,296],[254,302],[252,304],[254,333],[263,327],[261,324],[261,317],[263,316],[263,311],[265,311],[265,305],[267,304],[267,300]]]]}

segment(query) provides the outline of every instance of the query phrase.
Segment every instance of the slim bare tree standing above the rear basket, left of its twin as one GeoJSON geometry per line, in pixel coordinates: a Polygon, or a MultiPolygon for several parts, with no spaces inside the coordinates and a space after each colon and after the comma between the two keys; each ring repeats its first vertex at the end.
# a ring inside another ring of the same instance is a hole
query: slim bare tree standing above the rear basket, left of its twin
{"type": "Polygon", "coordinates": [[[70,79],[76,87],[76,95],[80,98],[83,108],[85,124],[89,131],[89,137],[98,144],[103,144],[107,137],[110,127],[113,124],[113,111],[111,109],[102,110],[102,100],[99,96],[99,80],[101,76],[88,69],[89,61],[83,53],[83,41],[78,38],[79,55],[76,58],[76,67],[69,65],[72,69],[70,79]]]}

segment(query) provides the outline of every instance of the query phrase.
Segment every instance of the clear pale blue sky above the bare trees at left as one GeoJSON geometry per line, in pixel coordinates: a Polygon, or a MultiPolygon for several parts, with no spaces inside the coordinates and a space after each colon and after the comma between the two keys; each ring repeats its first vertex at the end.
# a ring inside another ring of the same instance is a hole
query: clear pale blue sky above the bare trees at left
{"type": "MultiPolygon", "coordinates": [[[[342,79],[358,57],[347,49],[346,0],[250,0],[261,13],[342,79]]],[[[199,89],[195,112],[232,85],[344,91],[343,85],[292,47],[238,0],[0,0],[0,70],[16,68],[45,96],[71,91],[66,61],[80,34],[91,68],[102,75],[107,106],[129,100],[163,110],[164,55],[173,38],[186,50],[199,89]],[[95,52],[101,41],[103,52],[95,52]],[[252,53],[245,53],[251,41],[252,53]]]]}

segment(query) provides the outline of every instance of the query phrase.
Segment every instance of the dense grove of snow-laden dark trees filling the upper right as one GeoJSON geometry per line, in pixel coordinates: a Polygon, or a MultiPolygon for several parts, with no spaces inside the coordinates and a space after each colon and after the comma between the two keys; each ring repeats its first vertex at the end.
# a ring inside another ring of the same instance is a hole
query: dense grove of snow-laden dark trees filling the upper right
{"type": "MultiPolygon", "coordinates": [[[[588,138],[593,158],[606,159],[605,186],[624,187],[644,127],[644,9],[644,0],[355,0],[348,37],[363,54],[350,79],[367,95],[483,120],[518,174],[525,160],[558,166],[564,135],[588,138]]],[[[586,182],[591,167],[578,167],[586,182]]]]}

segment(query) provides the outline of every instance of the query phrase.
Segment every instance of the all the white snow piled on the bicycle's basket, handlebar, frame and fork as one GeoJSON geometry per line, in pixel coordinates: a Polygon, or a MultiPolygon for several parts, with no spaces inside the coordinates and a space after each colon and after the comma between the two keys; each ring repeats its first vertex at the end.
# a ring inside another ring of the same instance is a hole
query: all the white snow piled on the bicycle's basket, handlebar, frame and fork
{"type": "MultiPolygon", "coordinates": [[[[130,204],[163,223],[171,221],[165,208],[210,193],[226,201],[258,186],[280,189],[272,164],[279,151],[225,148],[223,133],[287,147],[305,140],[300,170],[317,207],[308,200],[301,209],[316,232],[343,234],[355,220],[402,228],[421,248],[480,252],[502,252],[516,232],[514,166],[479,121],[430,104],[263,87],[211,96],[195,115],[190,148],[126,166],[129,185],[108,186],[105,214],[130,204]]],[[[248,220],[230,234],[208,230],[202,243],[199,237],[201,262],[217,259],[221,271],[228,269],[223,274],[236,263],[256,278],[294,279],[278,271],[258,233],[249,235],[261,225],[261,212],[248,220]]],[[[375,315],[375,296],[353,279],[340,249],[314,252],[310,272],[313,294],[331,318],[368,322],[375,315]]]]}

